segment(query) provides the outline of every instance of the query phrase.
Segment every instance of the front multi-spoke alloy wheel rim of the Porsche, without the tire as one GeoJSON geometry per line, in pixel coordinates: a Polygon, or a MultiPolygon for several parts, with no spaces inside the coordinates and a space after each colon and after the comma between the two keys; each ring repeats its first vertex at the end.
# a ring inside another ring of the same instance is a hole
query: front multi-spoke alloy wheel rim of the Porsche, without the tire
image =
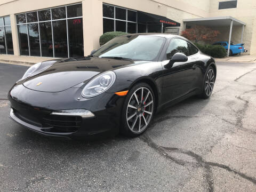
{"type": "Polygon", "coordinates": [[[154,98],[147,87],[140,87],[132,94],[126,109],[126,122],[133,133],[141,133],[153,115],[154,98]]]}

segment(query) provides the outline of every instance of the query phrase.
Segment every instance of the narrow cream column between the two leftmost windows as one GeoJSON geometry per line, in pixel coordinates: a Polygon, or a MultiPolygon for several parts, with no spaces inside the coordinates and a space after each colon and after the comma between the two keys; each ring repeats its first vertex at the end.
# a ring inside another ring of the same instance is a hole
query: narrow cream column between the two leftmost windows
{"type": "Polygon", "coordinates": [[[11,29],[12,29],[12,43],[14,55],[20,55],[19,38],[17,21],[14,14],[10,14],[11,29]]]}

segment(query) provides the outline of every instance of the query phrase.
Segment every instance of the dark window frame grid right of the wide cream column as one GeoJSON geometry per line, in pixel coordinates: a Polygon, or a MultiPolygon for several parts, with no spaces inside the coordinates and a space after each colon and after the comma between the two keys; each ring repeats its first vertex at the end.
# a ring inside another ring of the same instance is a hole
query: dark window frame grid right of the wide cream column
{"type": "Polygon", "coordinates": [[[128,33],[127,32],[127,29],[128,29],[128,22],[131,22],[131,23],[135,23],[136,24],[136,33],[138,33],[138,12],[136,10],[132,10],[132,9],[127,9],[125,7],[121,7],[121,6],[116,6],[116,5],[111,5],[111,4],[107,4],[107,3],[102,3],[102,9],[103,9],[103,5],[108,5],[108,6],[113,6],[114,7],[114,18],[109,18],[109,17],[103,17],[102,15],[102,18],[103,19],[111,19],[111,20],[114,20],[114,31],[116,31],[116,20],[117,21],[124,21],[125,22],[125,33],[128,33]],[[120,8],[120,9],[124,9],[126,11],[126,20],[122,20],[122,19],[116,19],[116,8],[120,8]],[[129,21],[128,20],[128,10],[129,11],[133,11],[133,12],[136,12],[136,22],[135,21],[129,21]]]}

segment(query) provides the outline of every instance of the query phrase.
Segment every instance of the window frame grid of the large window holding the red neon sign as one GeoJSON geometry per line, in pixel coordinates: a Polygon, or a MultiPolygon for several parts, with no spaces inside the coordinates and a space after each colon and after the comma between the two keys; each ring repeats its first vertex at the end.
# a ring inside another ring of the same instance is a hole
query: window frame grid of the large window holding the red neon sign
{"type": "MultiPolygon", "coordinates": [[[[68,14],[67,14],[67,7],[68,6],[71,6],[71,5],[78,5],[78,4],[81,4],[82,3],[74,3],[74,4],[68,4],[68,5],[60,5],[60,6],[55,6],[55,7],[50,7],[50,8],[46,8],[46,9],[41,9],[41,10],[34,10],[34,11],[28,11],[28,12],[22,12],[22,13],[18,13],[18,14],[15,14],[15,17],[17,17],[17,15],[19,14],[24,14],[25,13],[25,16],[26,16],[26,22],[25,23],[17,23],[16,27],[17,27],[17,30],[18,30],[18,26],[19,25],[26,25],[27,26],[27,37],[28,37],[28,49],[29,49],[29,56],[30,55],[30,45],[29,45],[29,33],[28,33],[28,24],[31,24],[31,23],[37,23],[38,25],[38,32],[39,32],[39,47],[40,47],[40,56],[33,56],[33,57],[44,57],[42,56],[42,47],[41,47],[41,35],[40,35],[40,27],[39,27],[39,23],[42,23],[42,22],[51,22],[51,27],[52,27],[52,51],[53,51],[53,58],[55,58],[55,50],[54,50],[54,36],[53,36],[53,21],[60,21],[60,20],[66,20],[66,29],[67,29],[67,49],[68,49],[68,58],[69,58],[69,34],[68,34],[68,20],[69,19],[79,19],[79,18],[82,18],[83,19],[83,12],[82,12],[82,16],[79,16],[79,17],[71,17],[71,18],[68,18],[68,14]],[[56,8],[59,8],[59,7],[65,7],[66,9],[66,17],[65,18],[62,18],[62,19],[52,19],[52,9],[56,9],[56,8]],[[38,15],[38,12],[39,11],[43,11],[43,10],[50,10],[50,13],[51,13],[51,19],[50,20],[45,20],[45,21],[39,21],[39,15],[38,15]],[[36,22],[28,22],[27,20],[27,13],[31,13],[31,12],[36,12],[37,13],[37,21],[36,22]]],[[[83,10],[83,9],[82,9],[83,10]]]]}

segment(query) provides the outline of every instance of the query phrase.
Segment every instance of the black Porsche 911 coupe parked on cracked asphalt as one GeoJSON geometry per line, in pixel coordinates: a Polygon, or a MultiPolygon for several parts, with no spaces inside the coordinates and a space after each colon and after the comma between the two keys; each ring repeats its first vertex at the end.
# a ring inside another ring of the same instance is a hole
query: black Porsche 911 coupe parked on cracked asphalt
{"type": "Polygon", "coordinates": [[[209,98],[216,72],[213,58],[181,36],[119,36],[88,57],[31,66],[9,92],[10,117],[49,136],[133,137],[163,107],[209,98]]]}

